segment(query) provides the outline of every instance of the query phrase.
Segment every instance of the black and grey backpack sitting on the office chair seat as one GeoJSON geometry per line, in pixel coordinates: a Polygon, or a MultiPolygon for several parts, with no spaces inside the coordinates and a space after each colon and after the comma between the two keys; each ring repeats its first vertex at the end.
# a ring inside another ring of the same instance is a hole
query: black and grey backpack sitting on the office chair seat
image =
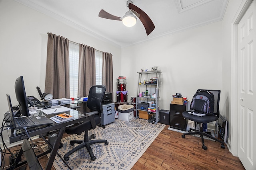
{"type": "Polygon", "coordinates": [[[214,95],[208,90],[200,90],[193,96],[190,109],[206,115],[213,114],[214,95]]]}

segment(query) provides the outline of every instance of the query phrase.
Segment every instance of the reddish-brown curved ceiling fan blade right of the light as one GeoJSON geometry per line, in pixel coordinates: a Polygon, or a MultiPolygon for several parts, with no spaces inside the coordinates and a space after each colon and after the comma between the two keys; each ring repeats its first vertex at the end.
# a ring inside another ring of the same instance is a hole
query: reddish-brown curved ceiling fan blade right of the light
{"type": "Polygon", "coordinates": [[[147,35],[149,35],[154,29],[155,25],[149,16],[134,4],[129,3],[129,10],[131,10],[142,22],[146,29],[147,35]]]}

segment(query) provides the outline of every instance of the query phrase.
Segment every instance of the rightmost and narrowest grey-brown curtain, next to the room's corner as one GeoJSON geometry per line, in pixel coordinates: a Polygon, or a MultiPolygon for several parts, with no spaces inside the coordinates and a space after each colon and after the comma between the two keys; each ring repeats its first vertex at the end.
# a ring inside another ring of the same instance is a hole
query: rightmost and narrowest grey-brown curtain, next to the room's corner
{"type": "Polygon", "coordinates": [[[113,99],[113,64],[112,54],[103,52],[102,84],[106,85],[106,92],[112,93],[113,99]]]}

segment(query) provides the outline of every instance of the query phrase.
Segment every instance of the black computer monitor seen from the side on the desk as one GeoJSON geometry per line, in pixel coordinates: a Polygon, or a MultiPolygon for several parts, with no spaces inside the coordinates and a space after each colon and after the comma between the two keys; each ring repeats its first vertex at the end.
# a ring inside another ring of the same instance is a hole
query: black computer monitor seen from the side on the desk
{"type": "Polygon", "coordinates": [[[20,113],[24,116],[30,116],[23,76],[18,77],[15,81],[15,94],[20,105],[20,113]]]}

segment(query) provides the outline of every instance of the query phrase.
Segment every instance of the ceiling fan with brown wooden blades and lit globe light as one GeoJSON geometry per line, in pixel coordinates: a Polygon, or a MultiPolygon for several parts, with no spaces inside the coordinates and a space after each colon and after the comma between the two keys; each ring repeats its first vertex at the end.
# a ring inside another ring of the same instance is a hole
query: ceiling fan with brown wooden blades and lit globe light
{"type": "Polygon", "coordinates": [[[129,8],[129,11],[125,13],[123,18],[113,16],[112,14],[109,14],[104,10],[100,10],[99,17],[106,18],[109,20],[122,21],[124,25],[126,25],[127,27],[132,27],[133,25],[135,25],[137,21],[137,18],[133,15],[134,13],[144,25],[147,35],[149,35],[155,29],[154,23],[144,11],[142,11],[140,8],[138,8],[132,3],[133,2],[131,0],[128,0],[126,2],[126,6],[129,8]]]}

